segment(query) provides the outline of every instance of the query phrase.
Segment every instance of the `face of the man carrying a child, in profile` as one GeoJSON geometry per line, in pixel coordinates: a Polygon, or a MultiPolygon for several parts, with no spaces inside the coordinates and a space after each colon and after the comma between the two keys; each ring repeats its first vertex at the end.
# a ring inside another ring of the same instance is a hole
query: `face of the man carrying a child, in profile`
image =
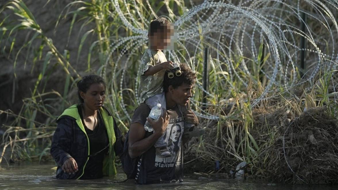
{"type": "Polygon", "coordinates": [[[192,97],[191,90],[193,87],[194,85],[183,83],[177,88],[174,88],[172,91],[173,101],[175,101],[175,103],[180,106],[186,106],[189,102],[189,99],[192,97]]]}

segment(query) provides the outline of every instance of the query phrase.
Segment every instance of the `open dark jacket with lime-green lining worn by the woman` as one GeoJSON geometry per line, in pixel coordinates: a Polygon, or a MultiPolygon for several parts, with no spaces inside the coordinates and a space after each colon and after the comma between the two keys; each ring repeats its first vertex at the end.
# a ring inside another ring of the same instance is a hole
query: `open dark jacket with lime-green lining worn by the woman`
{"type": "MultiPolygon", "coordinates": [[[[53,135],[50,154],[58,165],[56,170],[58,179],[80,179],[89,159],[89,140],[78,112],[78,106],[75,104],[69,107],[56,120],[57,128],[53,135]],[[61,169],[61,166],[70,157],[75,159],[78,171],[69,175],[61,169]]],[[[123,151],[122,136],[112,114],[104,107],[101,107],[99,111],[109,139],[108,154],[104,157],[102,172],[103,176],[114,177],[116,175],[115,156],[123,151]]]]}

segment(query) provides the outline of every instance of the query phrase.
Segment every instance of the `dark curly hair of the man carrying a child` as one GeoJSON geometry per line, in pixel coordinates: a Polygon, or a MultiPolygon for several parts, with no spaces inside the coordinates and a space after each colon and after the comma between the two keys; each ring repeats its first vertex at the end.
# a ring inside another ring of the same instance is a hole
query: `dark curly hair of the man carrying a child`
{"type": "Polygon", "coordinates": [[[193,72],[190,67],[185,63],[179,63],[179,66],[181,67],[181,76],[174,75],[173,78],[168,77],[168,71],[166,71],[163,79],[163,88],[164,91],[167,92],[169,90],[169,86],[173,86],[174,88],[177,88],[178,86],[181,86],[183,83],[188,85],[194,85],[196,82],[196,74],[193,72]]]}

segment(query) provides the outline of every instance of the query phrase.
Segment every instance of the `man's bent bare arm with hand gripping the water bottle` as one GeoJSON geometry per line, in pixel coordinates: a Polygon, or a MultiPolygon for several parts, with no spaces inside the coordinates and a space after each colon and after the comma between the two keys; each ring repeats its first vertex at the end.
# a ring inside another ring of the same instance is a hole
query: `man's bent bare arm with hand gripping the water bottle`
{"type": "Polygon", "coordinates": [[[148,122],[154,129],[154,133],[144,138],[146,131],[140,123],[133,123],[129,129],[129,149],[128,153],[130,158],[136,158],[152,147],[155,142],[162,136],[169,124],[169,115],[166,111],[163,116],[157,121],[152,121],[147,118],[148,122]]]}

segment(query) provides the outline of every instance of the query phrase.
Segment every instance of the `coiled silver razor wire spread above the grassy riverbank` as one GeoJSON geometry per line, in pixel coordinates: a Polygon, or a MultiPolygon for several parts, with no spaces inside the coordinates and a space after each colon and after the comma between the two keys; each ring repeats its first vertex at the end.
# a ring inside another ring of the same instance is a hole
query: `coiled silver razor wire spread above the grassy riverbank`
{"type": "MultiPolygon", "coordinates": [[[[119,4],[118,0],[111,1],[124,26],[135,33],[135,36],[121,37],[114,45],[112,44],[111,51],[107,52],[108,56],[104,65],[107,67],[109,60],[112,59],[111,54],[117,48],[123,47],[112,71],[112,79],[115,79],[117,68],[122,69],[121,75],[119,75],[120,85],[114,86],[112,83],[111,88],[119,88],[121,101],[119,106],[130,120],[130,113],[128,113],[123,99],[123,89],[129,84],[124,84],[124,78],[128,65],[140,64],[140,60],[129,63],[129,55],[127,61],[121,63],[121,58],[126,51],[131,54],[141,46],[147,45],[147,29],[141,28],[141,26],[146,26],[150,20],[140,13],[135,0],[131,2],[137,13],[134,16],[131,15],[126,0],[123,0],[122,4],[119,4]],[[126,6],[128,17],[121,11],[122,6],[126,6]]],[[[149,1],[146,3],[151,17],[158,17],[149,1]]],[[[266,77],[267,85],[261,94],[257,94],[257,98],[251,99],[251,107],[262,100],[279,96],[278,93],[289,93],[295,96],[292,89],[315,80],[320,70],[332,72],[337,69],[338,25],[335,20],[338,9],[337,0],[243,0],[237,5],[232,4],[231,1],[206,0],[200,5],[191,4],[193,7],[182,16],[176,17],[174,21],[178,29],[177,49],[168,50],[165,53],[174,61],[187,62],[195,71],[201,64],[196,57],[201,56],[203,47],[208,46],[211,50],[210,62],[214,74],[220,73],[224,78],[216,78],[216,84],[226,90],[234,87],[231,82],[234,80],[239,80],[245,87],[248,87],[249,81],[254,78],[254,74],[250,73],[249,68],[255,62],[261,61],[259,56],[262,54],[259,54],[259,51],[260,46],[264,44],[263,55],[269,56],[266,57],[265,64],[259,72],[266,77]],[[307,21],[303,20],[303,14],[306,15],[307,21]],[[302,23],[305,24],[305,31],[300,29],[302,23]],[[307,47],[300,47],[300,38],[305,39],[307,47]],[[323,42],[326,43],[325,46],[322,45],[323,42]],[[308,65],[305,69],[300,68],[298,64],[301,51],[307,52],[308,65]],[[242,59],[236,65],[234,60],[238,57],[242,59]],[[213,62],[213,59],[216,59],[218,65],[213,62]],[[296,76],[297,70],[303,73],[300,79],[296,76]],[[227,74],[224,74],[225,72],[227,74]],[[280,88],[283,88],[284,91],[280,92],[280,88]]],[[[173,14],[172,10],[169,12],[173,14]]],[[[139,68],[139,66],[137,67],[139,68]]],[[[106,69],[102,70],[101,75],[108,75],[106,69]]],[[[137,91],[140,77],[138,75],[127,76],[135,78],[135,103],[137,104],[140,103],[137,91]]],[[[196,83],[197,89],[206,92],[208,98],[215,99],[214,92],[204,89],[199,80],[196,83]]],[[[333,92],[336,92],[337,80],[337,78],[331,79],[333,92]]],[[[311,90],[311,87],[307,87],[305,90],[311,90]]],[[[230,98],[233,97],[230,95],[222,97],[218,103],[202,103],[196,99],[191,102],[197,108],[194,110],[197,116],[219,119],[219,114],[208,113],[199,106],[225,106],[232,104],[231,101],[228,101],[230,98]]],[[[338,94],[334,94],[334,99],[337,101],[338,94]]]]}

